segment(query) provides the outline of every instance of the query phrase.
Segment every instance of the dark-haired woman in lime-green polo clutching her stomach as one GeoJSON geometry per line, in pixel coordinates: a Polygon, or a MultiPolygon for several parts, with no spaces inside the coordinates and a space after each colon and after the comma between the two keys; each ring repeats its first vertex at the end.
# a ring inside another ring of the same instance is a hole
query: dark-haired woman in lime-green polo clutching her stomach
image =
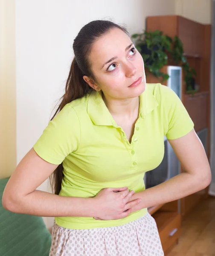
{"type": "Polygon", "coordinates": [[[55,216],[50,256],[161,256],[147,207],[209,185],[203,145],[176,94],[146,84],[142,57],[124,27],[92,21],[73,50],[60,112],[18,164],[3,205],[55,216]],[[163,159],[164,135],[186,172],[145,190],[144,173],[163,159]],[[52,173],[55,195],[36,190],[52,173]]]}

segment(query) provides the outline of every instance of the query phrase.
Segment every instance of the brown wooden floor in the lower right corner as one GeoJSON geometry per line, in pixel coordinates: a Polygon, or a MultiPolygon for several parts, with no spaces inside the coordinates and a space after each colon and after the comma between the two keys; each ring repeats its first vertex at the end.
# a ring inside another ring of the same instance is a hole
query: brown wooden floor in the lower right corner
{"type": "Polygon", "coordinates": [[[167,256],[215,256],[215,197],[184,218],[179,243],[167,256]]]}

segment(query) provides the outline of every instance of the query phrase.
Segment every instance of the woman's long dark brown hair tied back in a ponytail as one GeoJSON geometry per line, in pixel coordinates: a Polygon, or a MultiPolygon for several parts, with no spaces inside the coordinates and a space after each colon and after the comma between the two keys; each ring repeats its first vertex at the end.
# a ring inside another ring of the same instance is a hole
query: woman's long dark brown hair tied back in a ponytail
{"type": "MultiPolygon", "coordinates": [[[[52,116],[52,119],[67,103],[81,98],[93,90],[83,79],[83,76],[88,76],[96,82],[96,78],[90,69],[90,61],[88,58],[90,50],[96,40],[113,28],[121,29],[129,36],[125,26],[118,25],[110,20],[94,20],[82,27],[73,42],[75,57],[73,58],[70,73],[67,78],[65,94],[61,97],[60,104],[54,116],[52,116]]],[[[50,176],[52,191],[55,192],[56,195],[59,195],[61,190],[63,176],[63,165],[61,163],[50,176]]]]}

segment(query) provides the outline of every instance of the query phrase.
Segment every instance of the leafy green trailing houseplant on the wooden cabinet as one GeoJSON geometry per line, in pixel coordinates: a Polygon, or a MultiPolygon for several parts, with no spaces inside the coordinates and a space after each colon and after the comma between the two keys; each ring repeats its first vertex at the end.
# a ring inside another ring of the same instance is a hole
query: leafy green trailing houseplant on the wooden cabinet
{"type": "Polygon", "coordinates": [[[141,34],[133,34],[131,38],[135,39],[136,47],[145,64],[146,76],[152,73],[161,81],[169,79],[169,75],[160,72],[160,69],[168,64],[168,59],[177,66],[183,67],[186,82],[186,90],[194,91],[195,69],[189,66],[187,58],[184,56],[183,44],[177,36],[173,39],[163,35],[162,31],[154,32],[144,31],[141,34]]]}

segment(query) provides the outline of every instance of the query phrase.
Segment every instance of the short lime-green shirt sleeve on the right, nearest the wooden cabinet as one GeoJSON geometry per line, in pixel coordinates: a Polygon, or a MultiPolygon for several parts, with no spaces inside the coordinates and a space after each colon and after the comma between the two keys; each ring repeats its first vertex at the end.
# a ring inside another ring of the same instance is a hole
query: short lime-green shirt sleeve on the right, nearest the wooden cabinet
{"type": "Polygon", "coordinates": [[[162,85],[163,110],[166,116],[166,138],[174,140],[188,134],[194,123],[177,94],[169,87],[162,85]]]}

